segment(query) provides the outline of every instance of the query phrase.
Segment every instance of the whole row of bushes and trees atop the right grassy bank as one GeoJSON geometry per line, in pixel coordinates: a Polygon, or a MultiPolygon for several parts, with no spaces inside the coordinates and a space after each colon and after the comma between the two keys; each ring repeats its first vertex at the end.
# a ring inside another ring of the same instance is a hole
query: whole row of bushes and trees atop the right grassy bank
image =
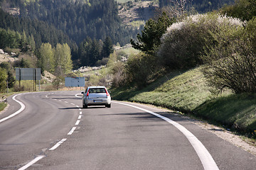
{"type": "MultiPolygon", "coordinates": [[[[166,15],[163,16],[169,21],[166,15]]],[[[134,84],[143,87],[163,70],[191,69],[203,64],[201,71],[213,92],[224,89],[235,94],[256,92],[255,18],[242,21],[218,13],[188,16],[171,24],[161,36],[160,44],[146,48],[152,44],[150,37],[155,35],[150,28],[157,30],[161,25],[157,22],[159,25],[148,27],[151,22],[145,26],[143,36],[138,35],[141,44],[133,44],[133,47],[139,45],[138,49],[143,53],[130,57],[126,64],[119,64],[118,69],[113,70],[114,86],[134,84]],[[122,70],[122,74],[117,74],[117,70],[122,70]]]]}

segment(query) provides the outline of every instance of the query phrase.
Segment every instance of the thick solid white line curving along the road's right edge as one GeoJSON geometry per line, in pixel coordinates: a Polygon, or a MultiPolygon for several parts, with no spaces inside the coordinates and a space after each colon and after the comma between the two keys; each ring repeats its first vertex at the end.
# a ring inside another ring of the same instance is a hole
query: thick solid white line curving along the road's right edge
{"type": "MultiPolygon", "coordinates": [[[[119,103],[119,102],[114,102],[114,103],[119,103]]],[[[139,108],[137,106],[132,106],[132,105],[129,105],[127,103],[119,103],[119,104],[130,106],[130,107],[133,107],[133,108],[137,108],[141,111],[145,111],[147,113],[150,113],[151,115],[155,115],[156,117],[159,117],[163,120],[166,120],[168,123],[171,123],[171,125],[174,125],[178,130],[180,130],[183,133],[183,135],[186,136],[188,141],[191,143],[191,145],[195,149],[196,154],[198,154],[198,157],[201,160],[201,163],[203,164],[204,169],[206,169],[206,170],[217,170],[218,169],[218,166],[215,163],[213,157],[210,155],[210,153],[208,152],[206,147],[202,144],[202,142],[200,140],[198,140],[198,138],[195,135],[193,135],[190,131],[188,131],[185,127],[183,127],[179,123],[176,123],[174,120],[166,118],[163,115],[159,115],[159,114],[154,113],[152,111],[148,111],[144,108],[139,108]]]]}

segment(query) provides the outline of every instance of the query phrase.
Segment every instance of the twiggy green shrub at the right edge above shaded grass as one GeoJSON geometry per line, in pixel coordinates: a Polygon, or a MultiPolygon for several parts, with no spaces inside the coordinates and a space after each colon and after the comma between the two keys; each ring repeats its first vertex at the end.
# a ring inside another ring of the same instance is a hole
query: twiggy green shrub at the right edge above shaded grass
{"type": "Polygon", "coordinates": [[[256,92],[255,29],[255,21],[244,28],[238,20],[228,18],[213,34],[216,43],[202,58],[206,62],[203,73],[215,92],[256,92]]]}

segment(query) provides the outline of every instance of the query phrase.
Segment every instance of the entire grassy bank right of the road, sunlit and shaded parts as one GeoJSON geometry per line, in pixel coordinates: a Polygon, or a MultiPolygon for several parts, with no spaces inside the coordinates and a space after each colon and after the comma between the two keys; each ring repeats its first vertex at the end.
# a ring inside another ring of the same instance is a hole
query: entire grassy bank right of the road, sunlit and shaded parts
{"type": "Polygon", "coordinates": [[[171,108],[217,125],[250,132],[255,137],[256,94],[236,95],[227,92],[213,96],[200,68],[173,72],[140,91],[127,88],[111,91],[113,99],[171,108]]]}

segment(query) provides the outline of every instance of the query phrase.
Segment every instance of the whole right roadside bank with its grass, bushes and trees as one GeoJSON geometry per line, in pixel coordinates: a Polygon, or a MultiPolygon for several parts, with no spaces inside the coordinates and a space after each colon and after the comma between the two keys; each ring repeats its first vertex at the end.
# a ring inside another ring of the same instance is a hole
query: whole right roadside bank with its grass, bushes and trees
{"type": "Polygon", "coordinates": [[[177,21],[162,13],[146,21],[142,34],[131,40],[141,53],[124,69],[119,65],[123,81],[113,81],[112,96],[191,113],[255,137],[254,3],[242,0],[177,21]],[[236,11],[245,1],[251,11],[236,11]],[[246,22],[245,12],[251,16],[246,22]],[[171,24],[163,32],[166,23],[171,24]]]}

